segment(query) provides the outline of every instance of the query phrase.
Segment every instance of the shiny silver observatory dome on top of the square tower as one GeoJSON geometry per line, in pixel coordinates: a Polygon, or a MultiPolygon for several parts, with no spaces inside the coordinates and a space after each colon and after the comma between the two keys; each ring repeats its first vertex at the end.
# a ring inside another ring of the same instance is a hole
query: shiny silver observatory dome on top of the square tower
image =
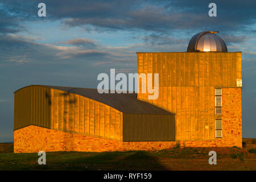
{"type": "Polygon", "coordinates": [[[187,52],[228,52],[225,42],[218,36],[218,31],[197,33],[189,41],[187,52]],[[217,34],[217,35],[216,35],[217,34]]]}

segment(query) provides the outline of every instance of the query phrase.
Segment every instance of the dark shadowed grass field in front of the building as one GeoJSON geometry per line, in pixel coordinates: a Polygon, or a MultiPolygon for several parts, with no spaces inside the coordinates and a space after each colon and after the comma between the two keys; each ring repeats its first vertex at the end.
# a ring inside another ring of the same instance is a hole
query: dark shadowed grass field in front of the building
{"type": "Polygon", "coordinates": [[[38,154],[14,154],[13,143],[0,143],[0,170],[256,170],[255,149],[170,148],[162,151],[47,152],[46,165],[38,154]],[[208,163],[217,152],[217,165],[208,163]]]}

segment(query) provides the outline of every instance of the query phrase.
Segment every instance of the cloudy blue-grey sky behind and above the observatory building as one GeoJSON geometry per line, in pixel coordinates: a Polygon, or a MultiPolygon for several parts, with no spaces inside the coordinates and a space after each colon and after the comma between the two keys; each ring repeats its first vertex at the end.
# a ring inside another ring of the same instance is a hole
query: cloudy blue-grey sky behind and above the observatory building
{"type": "Polygon", "coordinates": [[[15,90],[31,84],[97,87],[110,68],[136,72],[135,52],[186,51],[197,32],[219,31],[242,51],[243,137],[256,137],[256,2],[0,0],[0,142],[13,141],[15,90]]]}

